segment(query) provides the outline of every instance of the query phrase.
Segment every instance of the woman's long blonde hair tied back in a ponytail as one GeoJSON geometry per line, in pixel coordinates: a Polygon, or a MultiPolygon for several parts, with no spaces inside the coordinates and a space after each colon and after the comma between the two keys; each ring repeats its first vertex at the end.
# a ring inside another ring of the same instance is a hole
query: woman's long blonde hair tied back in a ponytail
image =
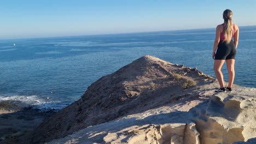
{"type": "Polygon", "coordinates": [[[233,23],[232,23],[232,11],[230,9],[226,9],[223,12],[223,19],[224,19],[224,36],[227,39],[227,43],[230,43],[232,40],[233,34],[233,23]]]}

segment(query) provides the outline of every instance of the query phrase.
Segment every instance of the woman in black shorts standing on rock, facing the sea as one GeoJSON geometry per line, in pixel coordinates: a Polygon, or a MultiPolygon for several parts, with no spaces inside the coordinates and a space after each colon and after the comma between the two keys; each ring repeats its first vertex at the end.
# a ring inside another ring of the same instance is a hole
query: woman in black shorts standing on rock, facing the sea
{"type": "Polygon", "coordinates": [[[216,36],[213,45],[212,58],[214,59],[214,72],[219,81],[220,88],[215,92],[232,91],[231,87],[235,77],[235,56],[238,45],[239,29],[232,23],[232,11],[226,9],[223,12],[224,23],[216,28],[216,36]],[[234,38],[234,41],[232,40],[234,38]],[[218,46],[218,49],[217,49],[218,46]],[[217,52],[216,52],[217,49],[217,52]],[[229,72],[229,85],[224,86],[222,65],[226,61],[229,72]]]}

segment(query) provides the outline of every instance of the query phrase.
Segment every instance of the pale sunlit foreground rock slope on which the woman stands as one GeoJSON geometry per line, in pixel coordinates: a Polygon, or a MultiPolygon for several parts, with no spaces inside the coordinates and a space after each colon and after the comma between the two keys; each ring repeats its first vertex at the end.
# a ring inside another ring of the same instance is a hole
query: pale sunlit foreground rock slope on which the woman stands
{"type": "Polygon", "coordinates": [[[207,89],[217,85],[197,87],[173,103],[92,125],[48,144],[255,143],[256,88],[235,85],[234,92],[218,94],[207,89]]]}

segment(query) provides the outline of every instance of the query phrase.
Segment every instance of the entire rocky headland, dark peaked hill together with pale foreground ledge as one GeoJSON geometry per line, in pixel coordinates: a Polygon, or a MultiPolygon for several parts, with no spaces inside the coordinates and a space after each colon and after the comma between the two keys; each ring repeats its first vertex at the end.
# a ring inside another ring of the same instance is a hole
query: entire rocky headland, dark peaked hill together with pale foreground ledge
{"type": "Polygon", "coordinates": [[[256,137],[256,89],[235,85],[232,93],[216,94],[216,87],[196,68],[144,56],[92,83],[26,143],[208,144],[256,137]]]}

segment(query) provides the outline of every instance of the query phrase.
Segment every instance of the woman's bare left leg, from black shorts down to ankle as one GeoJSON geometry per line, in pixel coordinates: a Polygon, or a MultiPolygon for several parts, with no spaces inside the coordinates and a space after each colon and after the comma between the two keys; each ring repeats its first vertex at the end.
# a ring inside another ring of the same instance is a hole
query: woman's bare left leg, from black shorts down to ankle
{"type": "Polygon", "coordinates": [[[219,81],[219,86],[220,88],[223,88],[224,87],[224,80],[223,80],[223,74],[222,74],[222,65],[224,64],[225,60],[222,60],[222,59],[216,59],[214,60],[214,72],[215,72],[215,75],[219,81]]]}

